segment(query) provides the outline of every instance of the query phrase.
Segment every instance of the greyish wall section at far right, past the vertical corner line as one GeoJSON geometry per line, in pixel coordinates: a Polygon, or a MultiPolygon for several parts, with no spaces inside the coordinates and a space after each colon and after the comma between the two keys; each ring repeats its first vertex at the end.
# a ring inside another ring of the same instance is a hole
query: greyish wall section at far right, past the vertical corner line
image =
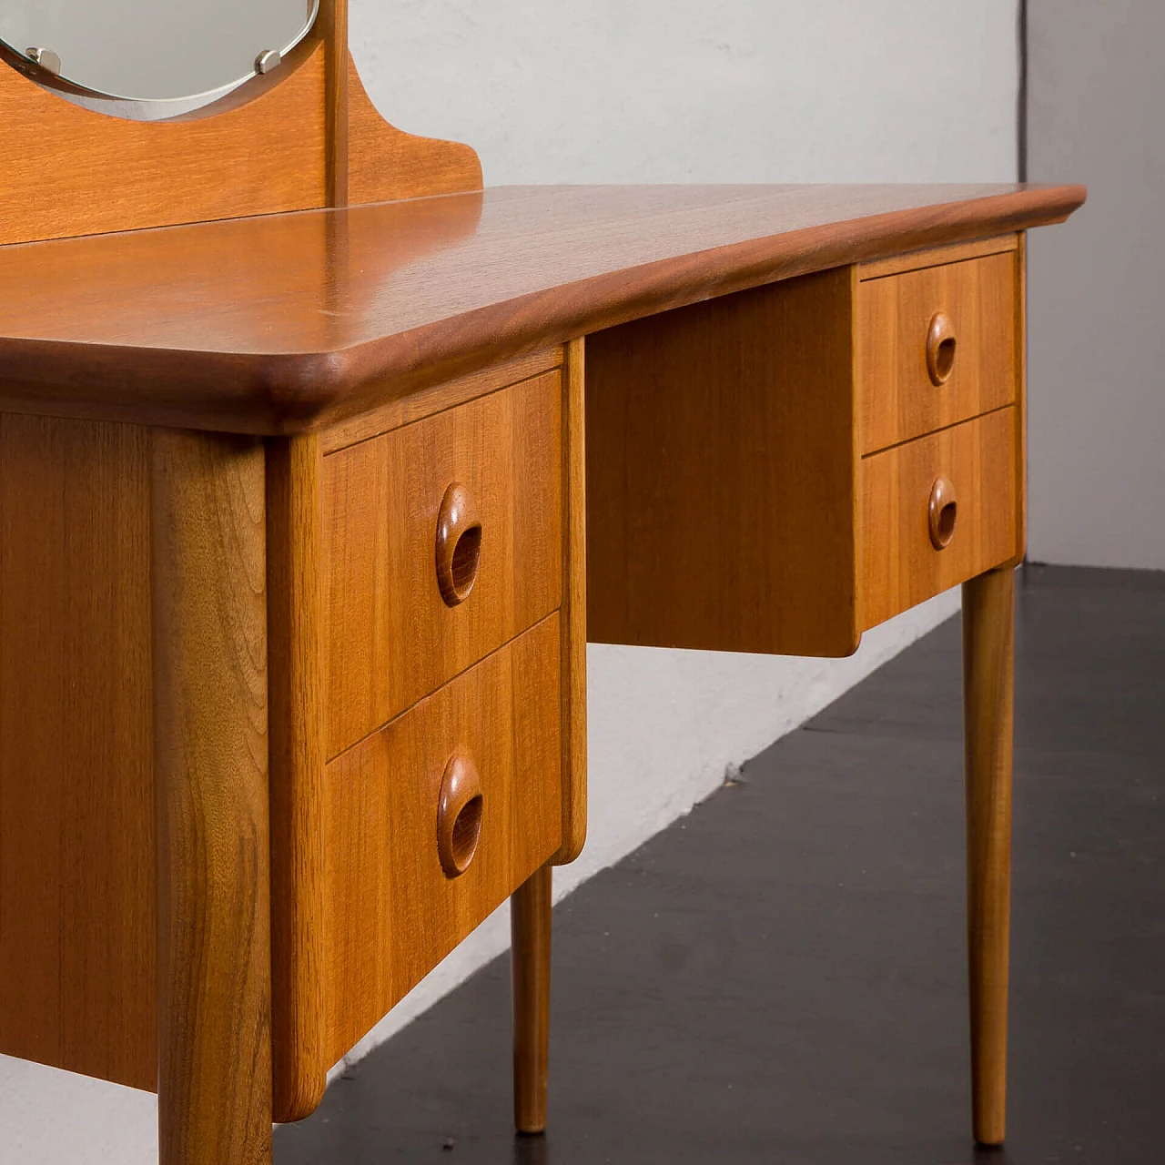
{"type": "Polygon", "coordinates": [[[1032,232],[1029,555],[1165,570],[1165,5],[1030,0],[1029,172],[1083,182],[1032,232]]]}

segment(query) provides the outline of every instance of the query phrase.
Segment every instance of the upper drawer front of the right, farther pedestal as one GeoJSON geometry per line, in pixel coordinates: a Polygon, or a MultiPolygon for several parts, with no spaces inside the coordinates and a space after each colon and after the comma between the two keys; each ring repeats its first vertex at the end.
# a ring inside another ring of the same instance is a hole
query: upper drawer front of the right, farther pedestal
{"type": "Polygon", "coordinates": [[[860,282],[861,451],[1016,400],[1016,253],[860,282]]]}

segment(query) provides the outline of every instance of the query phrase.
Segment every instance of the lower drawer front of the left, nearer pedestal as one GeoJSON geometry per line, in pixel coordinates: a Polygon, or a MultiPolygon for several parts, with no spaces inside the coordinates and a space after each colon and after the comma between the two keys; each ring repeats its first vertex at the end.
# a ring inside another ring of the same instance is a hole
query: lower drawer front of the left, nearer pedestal
{"type": "Polygon", "coordinates": [[[329,1064],[558,849],[558,635],[555,614],[327,765],[329,1064]]]}

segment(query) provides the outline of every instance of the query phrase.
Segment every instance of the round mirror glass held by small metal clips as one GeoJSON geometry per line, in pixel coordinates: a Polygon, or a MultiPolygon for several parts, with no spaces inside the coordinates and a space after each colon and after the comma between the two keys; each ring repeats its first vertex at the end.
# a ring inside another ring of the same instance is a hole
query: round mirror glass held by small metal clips
{"type": "Polygon", "coordinates": [[[161,113],[172,115],[276,68],[317,9],[318,0],[0,0],[0,42],[19,64],[35,62],[34,76],[59,77],[65,96],[172,103],[181,110],[161,113]]]}

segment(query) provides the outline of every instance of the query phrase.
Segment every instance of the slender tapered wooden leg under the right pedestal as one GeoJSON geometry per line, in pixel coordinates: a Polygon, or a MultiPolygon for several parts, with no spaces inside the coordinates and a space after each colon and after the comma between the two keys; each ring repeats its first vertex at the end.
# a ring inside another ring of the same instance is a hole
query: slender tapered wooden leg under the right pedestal
{"type": "Polygon", "coordinates": [[[1012,570],[991,571],[963,585],[962,654],[972,1111],[975,1139],[995,1145],[1003,1141],[1007,1121],[1012,570]]]}

